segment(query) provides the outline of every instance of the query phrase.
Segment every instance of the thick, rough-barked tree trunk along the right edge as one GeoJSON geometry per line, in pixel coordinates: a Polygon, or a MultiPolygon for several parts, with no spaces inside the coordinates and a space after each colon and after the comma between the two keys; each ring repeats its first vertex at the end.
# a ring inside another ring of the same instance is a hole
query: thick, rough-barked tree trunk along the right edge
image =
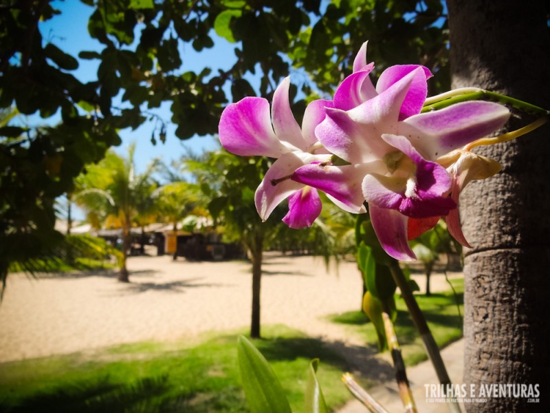
{"type": "MultiPolygon", "coordinates": [[[[550,108],[545,2],[449,0],[452,87],[476,86],[550,108]]],[[[533,120],[510,120],[509,130],[533,120]]],[[[539,403],[488,398],[468,412],[550,411],[550,184],[547,126],[476,150],[503,166],[461,196],[464,383],[538,385],[539,403]]]]}

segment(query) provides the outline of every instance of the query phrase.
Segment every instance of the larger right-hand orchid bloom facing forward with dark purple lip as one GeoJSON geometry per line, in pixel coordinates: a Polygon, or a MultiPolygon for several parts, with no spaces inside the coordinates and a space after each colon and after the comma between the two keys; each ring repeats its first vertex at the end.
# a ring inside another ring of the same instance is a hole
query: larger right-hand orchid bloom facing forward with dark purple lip
{"type": "Polygon", "coordinates": [[[386,165],[383,173],[367,173],[362,189],[377,237],[398,260],[416,258],[407,242],[408,218],[456,209],[457,198],[449,196],[453,181],[437,159],[492,133],[509,118],[505,107],[489,102],[420,114],[428,73],[419,66],[390,67],[380,76],[375,96],[351,109],[327,108],[316,128],[322,145],[351,164],[382,160],[386,165]]]}

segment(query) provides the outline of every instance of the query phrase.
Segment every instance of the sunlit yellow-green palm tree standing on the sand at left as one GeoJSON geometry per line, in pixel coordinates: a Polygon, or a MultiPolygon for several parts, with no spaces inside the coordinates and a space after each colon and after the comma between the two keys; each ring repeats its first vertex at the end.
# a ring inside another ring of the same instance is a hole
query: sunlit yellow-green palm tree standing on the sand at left
{"type": "Polygon", "coordinates": [[[89,165],[87,173],[78,178],[81,190],[75,194],[77,204],[89,212],[89,217],[100,216],[112,228],[122,229],[122,260],[118,281],[129,282],[126,260],[131,244],[131,228],[139,218],[152,213],[151,194],[156,184],[152,175],[158,162],[154,160],[143,173],[135,173],[133,156],[135,143],[130,145],[128,157],[122,158],[109,151],[96,165],[89,165]]]}

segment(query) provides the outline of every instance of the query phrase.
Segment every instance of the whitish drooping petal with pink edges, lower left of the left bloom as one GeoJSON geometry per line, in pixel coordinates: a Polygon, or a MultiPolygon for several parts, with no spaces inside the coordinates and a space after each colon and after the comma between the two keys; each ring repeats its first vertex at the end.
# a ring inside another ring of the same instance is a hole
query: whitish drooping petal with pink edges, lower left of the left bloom
{"type": "Polygon", "coordinates": [[[281,201],[303,187],[303,184],[290,180],[290,176],[304,164],[305,161],[296,152],[289,152],[267,170],[254,195],[256,210],[263,221],[269,218],[281,201]]]}

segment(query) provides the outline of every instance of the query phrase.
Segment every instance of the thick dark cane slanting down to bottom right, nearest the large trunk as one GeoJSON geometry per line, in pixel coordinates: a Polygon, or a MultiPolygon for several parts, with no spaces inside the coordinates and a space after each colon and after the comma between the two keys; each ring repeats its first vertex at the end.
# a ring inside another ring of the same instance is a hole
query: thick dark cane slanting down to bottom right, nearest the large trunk
{"type": "MultiPolygon", "coordinates": [[[[401,295],[405,300],[405,304],[408,308],[410,316],[412,317],[412,321],[415,323],[415,326],[420,333],[420,337],[424,343],[424,348],[426,348],[428,357],[430,357],[430,361],[432,361],[437,374],[437,379],[439,379],[439,383],[442,385],[451,385],[449,374],[447,373],[443,359],[441,359],[441,352],[439,352],[437,343],[435,342],[432,332],[428,327],[428,323],[426,323],[426,318],[424,318],[424,315],[418,306],[415,296],[412,295],[412,290],[410,289],[401,267],[399,267],[399,263],[393,260],[390,270],[393,279],[395,280],[395,284],[397,284],[399,290],[401,290],[401,295]]],[[[452,413],[461,412],[459,403],[449,402],[448,404],[452,413]]]]}

